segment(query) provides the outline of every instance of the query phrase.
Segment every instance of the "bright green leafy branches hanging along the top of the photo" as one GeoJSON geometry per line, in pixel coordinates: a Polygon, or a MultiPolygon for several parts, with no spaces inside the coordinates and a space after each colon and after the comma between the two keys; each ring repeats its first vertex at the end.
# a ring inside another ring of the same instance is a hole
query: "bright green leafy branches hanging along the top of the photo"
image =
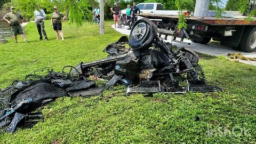
{"type": "MultiPolygon", "coordinates": [[[[16,6],[19,11],[25,15],[26,18],[34,17],[34,10],[36,4],[40,4],[41,8],[46,11],[46,13],[52,13],[52,7],[57,5],[59,10],[62,13],[66,12],[66,15],[69,15],[69,22],[76,23],[77,26],[82,26],[82,23],[87,20],[89,17],[92,17],[92,7],[98,5],[98,2],[95,0],[1,0],[0,6],[4,3],[10,2],[16,6]]],[[[104,0],[105,1],[105,18],[112,18],[110,12],[110,7],[113,7],[114,4],[119,3],[121,9],[126,9],[127,4],[134,2],[133,0],[104,0]]],[[[194,11],[196,0],[138,0],[135,1],[137,4],[143,2],[158,2],[164,5],[165,10],[179,10],[179,28],[186,27],[186,17],[181,13],[183,10],[194,11]]],[[[223,7],[220,6],[221,0],[211,0],[210,9],[221,13],[223,7]]],[[[227,10],[237,10],[241,13],[246,13],[250,17],[256,15],[256,10],[250,11],[249,0],[229,0],[227,2],[227,10]]]]}

